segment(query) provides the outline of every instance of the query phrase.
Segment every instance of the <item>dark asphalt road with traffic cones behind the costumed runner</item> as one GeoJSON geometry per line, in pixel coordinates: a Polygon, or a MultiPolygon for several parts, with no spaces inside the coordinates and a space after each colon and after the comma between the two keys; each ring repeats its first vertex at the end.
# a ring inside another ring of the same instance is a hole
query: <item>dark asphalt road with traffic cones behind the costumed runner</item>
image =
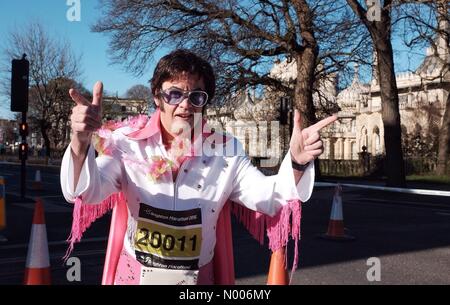
{"type": "MultiPolygon", "coordinates": [[[[27,185],[36,167],[29,168],[27,185]]],[[[70,204],[62,197],[57,168],[41,167],[44,190],[27,190],[20,198],[19,167],[0,163],[6,179],[7,227],[0,232],[0,284],[20,284],[34,208],[45,205],[53,284],[99,284],[110,216],[98,220],[76,246],[82,263],[81,282],[69,282],[61,260],[70,232],[70,204]]],[[[450,198],[344,188],[344,222],[352,242],[318,238],[327,229],[333,189],[316,188],[302,206],[299,268],[293,284],[450,284],[450,198]],[[369,281],[369,258],[380,262],[380,281],[369,281]]],[[[233,221],[236,283],[265,284],[270,252],[233,221]]],[[[290,244],[289,260],[293,245],[290,244]]],[[[291,265],[291,264],[290,264],[291,265]]]]}

